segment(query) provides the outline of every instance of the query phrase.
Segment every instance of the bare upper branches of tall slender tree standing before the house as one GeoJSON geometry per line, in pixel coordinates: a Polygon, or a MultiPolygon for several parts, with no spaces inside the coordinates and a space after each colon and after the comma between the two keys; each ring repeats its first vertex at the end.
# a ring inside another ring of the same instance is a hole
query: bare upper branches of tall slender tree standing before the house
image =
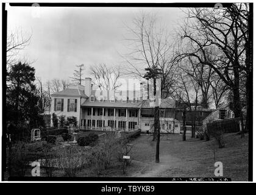
{"type": "Polygon", "coordinates": [[[175,82],[174,43],[163,25],[158,25],[157,16],[141,13],[133,19],[133,26],[127,26],[131,37],[126,38],[131,52],[124,55],[127,74],[144,77],[145,69],[160,69],[162,98],[168,98],[175,82]]]}

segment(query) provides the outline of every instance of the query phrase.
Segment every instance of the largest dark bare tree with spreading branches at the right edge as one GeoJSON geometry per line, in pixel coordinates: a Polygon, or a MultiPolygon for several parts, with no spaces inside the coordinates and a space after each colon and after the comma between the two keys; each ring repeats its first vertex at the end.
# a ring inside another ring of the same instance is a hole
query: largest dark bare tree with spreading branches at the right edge
{"type": "MultiPolygon", "coordinates": [[[[236,4],[232,5],[233,7],[236,4]]],[[[240,82],[244,71],[244,37],[238,25],[239,16],[229,9],[190,9],[187,12],[187,22],[182,28],[183,39],[191,44],[190,51],[181,54],[183,57],[193,57],[201,64],[210,66],[218,76],[233,91],[233,111],[235,117],[241,112],[240,82]],[[208,49],[207,49],[208,48],[208,49]],[[207,51],[212,49],[215,59],[207,58],[207,51]]],[[[244,19],[242,19],[244,20],[244,19]]],[[[242,130],[243,137],[243,130],[242,130]]]]}

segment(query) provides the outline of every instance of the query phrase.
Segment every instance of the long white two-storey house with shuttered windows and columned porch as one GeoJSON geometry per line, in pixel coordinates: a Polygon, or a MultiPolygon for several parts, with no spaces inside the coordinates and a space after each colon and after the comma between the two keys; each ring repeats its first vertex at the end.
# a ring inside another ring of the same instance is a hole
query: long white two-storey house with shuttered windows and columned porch
{"type": "MultiPolygon", "coordinates": [[[[79,129],[141,129],[146,132],[154,129],[154,107],[149,99],[143,98],[143,88],[141,83],[140,90],[93,90],[91,78],[85,78],[84,86],[70,85],[66,90],[51,94],[51,118],[52,113],[57,116],[64,115],[66,118],[74,116],[79,129]]],[[[162,132],[180,133],[180,121],[174,119],[175,107],[175,101],[172,99],[161,100],[162,132]]]]}

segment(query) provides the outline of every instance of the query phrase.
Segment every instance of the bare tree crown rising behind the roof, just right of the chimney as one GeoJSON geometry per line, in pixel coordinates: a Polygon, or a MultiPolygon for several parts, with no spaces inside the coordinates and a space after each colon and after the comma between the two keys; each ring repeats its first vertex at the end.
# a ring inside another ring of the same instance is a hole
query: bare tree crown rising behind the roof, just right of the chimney
{"type": "Polygon", "coordinates": [[[121,78],[121,68],[107,67],[105,64],[94,65],[90,67],[90,74],[94,77],[94,84],[101,90],[116,90],[122,84],[119,83],[121,78]]]}

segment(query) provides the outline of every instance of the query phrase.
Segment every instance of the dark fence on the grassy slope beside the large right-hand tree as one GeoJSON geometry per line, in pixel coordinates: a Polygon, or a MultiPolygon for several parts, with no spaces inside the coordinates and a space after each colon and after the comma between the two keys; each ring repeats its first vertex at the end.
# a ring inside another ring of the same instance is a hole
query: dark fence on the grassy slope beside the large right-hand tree
{"type": "Polygon", "coordinates": [[[224,133],[240,132],[240,118],[223,119],[207,123],[208,132],[222,131],[224,133]]]}

